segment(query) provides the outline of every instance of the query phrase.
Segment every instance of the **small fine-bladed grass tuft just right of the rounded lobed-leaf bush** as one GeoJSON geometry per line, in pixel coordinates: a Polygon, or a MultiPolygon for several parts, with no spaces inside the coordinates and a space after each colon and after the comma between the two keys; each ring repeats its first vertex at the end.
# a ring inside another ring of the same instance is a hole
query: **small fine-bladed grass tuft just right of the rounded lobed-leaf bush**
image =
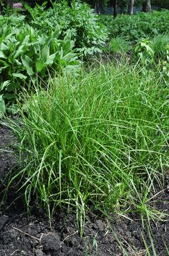
{"type": "Polygon", "coordinates": [[[109,50],[113,53],[127,53],[131,49],[131,45],[124,38],[112,38],[110,41],[109,50]]]}

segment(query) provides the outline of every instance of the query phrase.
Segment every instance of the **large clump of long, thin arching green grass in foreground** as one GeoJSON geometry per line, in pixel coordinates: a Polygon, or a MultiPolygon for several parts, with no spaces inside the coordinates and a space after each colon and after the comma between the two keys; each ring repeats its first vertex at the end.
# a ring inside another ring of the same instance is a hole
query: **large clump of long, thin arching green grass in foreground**
{"type": "Polygon", "coordinates": [[[11,123],[23,162],[8,186],[21,178],[27,205],[36,196],[49,217],[73,208],[79,228],[93,209],[156,218],[150,199],[168,165],[168,116],[158,72],[109,63],[56,78],[25,96],[22,125],[11,123]]]}

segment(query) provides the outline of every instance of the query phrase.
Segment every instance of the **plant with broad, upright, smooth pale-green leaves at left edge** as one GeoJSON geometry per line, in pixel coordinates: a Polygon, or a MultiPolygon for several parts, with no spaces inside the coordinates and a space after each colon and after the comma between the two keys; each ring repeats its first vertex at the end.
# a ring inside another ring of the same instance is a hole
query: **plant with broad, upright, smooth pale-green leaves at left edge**
{"type": "Polygon", "coordinates": [[[0,37],[0,112],[20,97],[21,86],[30,87],[41,78],[47,82],[52,73],[60,70],[76,72],[77,55],[69,35],[58,39],[59,31],[46,36],[24,25],[22,28],[1,28],[0,37]]]}

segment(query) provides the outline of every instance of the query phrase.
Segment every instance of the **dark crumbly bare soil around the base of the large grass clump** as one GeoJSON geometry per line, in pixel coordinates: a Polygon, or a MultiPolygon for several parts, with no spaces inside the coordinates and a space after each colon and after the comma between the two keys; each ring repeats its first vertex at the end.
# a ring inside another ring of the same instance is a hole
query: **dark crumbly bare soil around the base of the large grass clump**
{"type": "MultiPolygon", "coordinates": [[[[7,174],[16,164],[13,155],[15,143],[11,130],[0,124],[0,149],[4,150],[0,151],[1,191],[5,188],[7,174]]],[[[159,193],[158,202],[152,205],[165,213],[169,213],[168,184],[169,174],[165,179],[165,191],[159,193]]],[[[58,210],[50,227],[38,208],[34,207],[28,218],[23,200],[14,200],[18,196],[16,188],[11,188],[7,201],[1,207],[0,256],[125,255],[119,240],[128,255],[146,255],[141,234],[144,234],[148,245],[150,242],[146,225],[143,227],[138,215],[129,215],[132,220],[114,217],[111,225],[108,225],[107,220],[100,215],[88,214],[81,238],[74,213],[58,210]]],[[[167,255],[164,244],[169,247],[169,222],[151,222],[151,231],[157,254],[167,255]]]]}

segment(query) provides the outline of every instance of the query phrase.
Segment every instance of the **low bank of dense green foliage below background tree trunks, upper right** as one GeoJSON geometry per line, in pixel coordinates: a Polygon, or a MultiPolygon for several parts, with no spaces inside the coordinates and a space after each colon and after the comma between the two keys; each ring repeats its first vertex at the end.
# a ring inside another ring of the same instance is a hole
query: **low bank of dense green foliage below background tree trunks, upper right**
{"type": "Polygon", "coordinates": [[[131,43],[138,43],[142,38],[153,38],[159,34],[169,35],[169,11],[153,11],[151,14],[138,13],[132,16],[119,15],[101,16],[102,21],[108,28],[110,38],[122,36],[131,43]]]}

